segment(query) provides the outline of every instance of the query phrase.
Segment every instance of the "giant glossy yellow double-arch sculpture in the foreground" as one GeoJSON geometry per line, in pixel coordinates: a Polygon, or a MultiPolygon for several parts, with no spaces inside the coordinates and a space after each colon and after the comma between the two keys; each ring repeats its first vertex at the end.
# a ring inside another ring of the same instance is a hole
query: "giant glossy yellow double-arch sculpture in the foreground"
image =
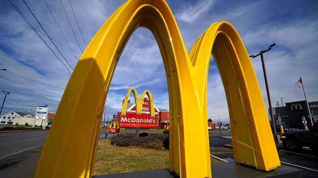
{"type": "Polygon", "coordinates": [[[234,160],[264,171],[280,166],[262,94],[234,27],[228,22],[213,23],[187,54],[164,0],[129,0],[109,17],[80,57],[56,111],[36,178],[92,175],[111,78],[128,39],[138,27],[154,34],[166,72],[171,172],[180,177],[212,177],[207,129],[211,54],[228,102],[234,160]],[[191,132],[193,119],[198,123],[196,134],[191,132]]]}

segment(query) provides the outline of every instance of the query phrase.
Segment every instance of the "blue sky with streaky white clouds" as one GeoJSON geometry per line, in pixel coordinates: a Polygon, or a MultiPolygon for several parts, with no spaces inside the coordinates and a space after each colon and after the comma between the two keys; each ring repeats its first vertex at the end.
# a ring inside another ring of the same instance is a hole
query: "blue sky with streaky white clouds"
{"type": "MultiPolygon", "coordinates": [[[[53,48],[24,2],[13,1],[53,48]]],[[[85,45],[70,3],[68,0],[61,1],[75,30],[79,45],[84,49],[85,45]]],[[[63,56],[72,67],[75,67],[81,50],[60,1],[47,0],[76,57],[53,21],[45,1],[26,0],[26,2],[63,56]]],[[[71,0],[71,2],[86,44],[107,18],[124,3],[122,0],[71,0]]],[[[219,21],[227,21],[234,25],[249,54],[256,54],[266,49],[268,45],[276,43],[276,46],[265,54],[273,106],[276,100],[280,102],[279,93],[281,95],[284,93],[284,102],[304,99],[302,89],[294,86],[299,76],[303,77],[309,101],[318,100],[318,2],[316,0],[167,0],[167,3],[176,18],[188,50],[206,28],[213,22],[219,21]]],[[[63,60],[58,51],[54,48],[53,50],[63,60]]],[[[267,107],[261,61],[259,58],[251,60],[267,107]]],[[[70,76],[7,0],[0,1],[1,67],[59,88],[66,87],[70,76]]],[[[22,89],[0,77],[0,89],[11,92],[2,113],[11,110],[29,111],[31,108],[34,112],[36,106],[43,104],[48,104],[51,112],[56,111],[63,89],[37,84],[6,71],[0,71],[0,76],[25,87],[22,89]]],[[[149,89],[159,108],[169,108],[166,78],[159,48],[151,32],[144,28],[139,28],[133,33],[120,58],[108,92],[106,113],[113,114],[120,111],[122,99],[131,87],[136,88],[139,93],[149,89]]],[[[2,99],[3,95],[0,95],[0,100],[2,99]]],[[[227,111],[223,85],[211,58],[208,115],[216,119],[215,115],[224,113],[221,115],[221,120],[222,118],[226,120],[227,111]]]]}

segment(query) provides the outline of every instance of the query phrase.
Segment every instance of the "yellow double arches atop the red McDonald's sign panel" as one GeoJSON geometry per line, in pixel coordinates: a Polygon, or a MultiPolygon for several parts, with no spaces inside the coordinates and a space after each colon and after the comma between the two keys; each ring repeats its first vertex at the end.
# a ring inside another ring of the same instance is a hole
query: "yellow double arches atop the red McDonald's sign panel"
{"type": "Polygon", "coordinates": [[[122,115],[126,115],[127,102],[128,102],[128,98],[129,98],[130,93],[133,93],[133,95],[134,95],[135,104],[136,104],[136,113],[137,114],[141,114],[142,103],[144,101],[145,96],[147,95],[148,98],[149,98],[149,102],[150,102],[150,114],[151,114],[151,117],[156,117],[154,100],[153,100],[151,92],[149,90],[145,90],[142,93],[141,98],[139,100],[138,92],[134,88],[129,89],[127,94],[126,94],[126,97],[125,97],[124,102],[123,102],[122,112],[121,112],[122,115]]]}

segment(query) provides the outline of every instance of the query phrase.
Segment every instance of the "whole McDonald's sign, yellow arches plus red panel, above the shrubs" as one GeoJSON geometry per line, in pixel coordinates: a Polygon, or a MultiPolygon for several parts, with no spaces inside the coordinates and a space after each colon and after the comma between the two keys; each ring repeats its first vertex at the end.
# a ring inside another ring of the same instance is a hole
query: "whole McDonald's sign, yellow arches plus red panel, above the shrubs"
{"type": "Polygon", "coordinates": [[[158,126],[158,112],[155,109],[154,100],[149,90],[145,90],[139,99],[136,89],[129,89],[123,101],[123,108],[118,112],[119,127],[121,128],[156,128],[158,126]],[[130,93],[134,94],[134,111],[127,112],[127,104],[130,93]]]}

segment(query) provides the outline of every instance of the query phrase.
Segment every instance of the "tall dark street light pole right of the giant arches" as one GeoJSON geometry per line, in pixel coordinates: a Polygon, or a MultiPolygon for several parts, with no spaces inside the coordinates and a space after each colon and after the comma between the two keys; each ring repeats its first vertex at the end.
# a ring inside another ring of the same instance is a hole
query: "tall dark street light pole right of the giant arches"
{"type": "Polygon", "coordinates": [[[269,88],[268,88],[268,82],[267,82],[267,74],[266,74],[266,68],[265,68],[265,62],[264,62],[264,56],[263,54],[269,50],[271,50],[271,48],[276,45],[276,44],[272,44],[268,47],[268,49],[264,50],[264,51],[260,51],[259,54],[257,55],[251,55],[249,57],[255,58],[259,55],[261,55],[261,61],[262,61],[262,66],[263,66],[263,73],[264,73],[264,78],[265,78],[265,86],[266,86],[266,93],[267,93],[267,99],[268,99],[268,105],[269,105],[269,114],[271,117],[271,122],[272,122],[272,127],[273,127],[273,134],[276,135],[276,128],[275,128],[275,121],[274,121],[274,115],[273,115],[273,111],[272,111],[272,105],[271,105],[271,99],[270,99],[270,93],[269,93],[269,88]]]}

